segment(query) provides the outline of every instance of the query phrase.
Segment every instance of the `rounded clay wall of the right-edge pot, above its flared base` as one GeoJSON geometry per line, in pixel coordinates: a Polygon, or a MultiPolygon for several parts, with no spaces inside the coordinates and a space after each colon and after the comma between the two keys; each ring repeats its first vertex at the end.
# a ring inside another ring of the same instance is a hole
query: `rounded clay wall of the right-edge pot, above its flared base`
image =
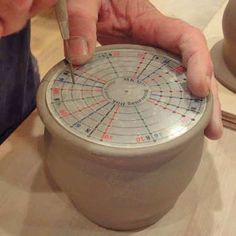
{"type": "Polygon", "coordinates": [[[229,70],[236,76],[236,0],[230,0],[223,16],[223,56],[229,70]]]}

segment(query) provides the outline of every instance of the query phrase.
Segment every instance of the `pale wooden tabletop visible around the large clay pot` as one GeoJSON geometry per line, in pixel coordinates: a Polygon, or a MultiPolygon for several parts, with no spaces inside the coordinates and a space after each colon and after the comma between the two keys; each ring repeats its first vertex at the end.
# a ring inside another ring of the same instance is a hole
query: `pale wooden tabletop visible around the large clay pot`
{"type": "MultiPolygon", "coordinates": [[[[223,38],[221,23],[226,4],[222,2],[226,3],[225,0],[153,2],[164,12],[185,20],[188,17],[189,23],[200,26],[209,48],[223,38]]],[[[56,22],[40,15],[32,24],[32,46],[43,75],[63,59],[60,33],[56,22]]],[[[222,109],[236,114],[235,94],[221,84],[219,88],[222,109]]],[[[236,235],[236,189],[231,187],[236,179],[236,132],[224,129],[222,139],[206,140],[193,180],[169,213],[142,231],[120,233],[87,220],[62,191],[49,184],[42,162],[43,130],[35,111],[0,146],[1,236],[236,235]]]]}

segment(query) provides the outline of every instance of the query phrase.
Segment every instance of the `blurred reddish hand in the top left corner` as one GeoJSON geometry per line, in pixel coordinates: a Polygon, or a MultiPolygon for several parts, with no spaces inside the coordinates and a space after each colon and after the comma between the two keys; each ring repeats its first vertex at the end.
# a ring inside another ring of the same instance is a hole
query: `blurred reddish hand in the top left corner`
{"type": "Polygon", "coordinates": [[[26,22],[56,0],[0,0],[0,37],[22,29],[26,22]]]}

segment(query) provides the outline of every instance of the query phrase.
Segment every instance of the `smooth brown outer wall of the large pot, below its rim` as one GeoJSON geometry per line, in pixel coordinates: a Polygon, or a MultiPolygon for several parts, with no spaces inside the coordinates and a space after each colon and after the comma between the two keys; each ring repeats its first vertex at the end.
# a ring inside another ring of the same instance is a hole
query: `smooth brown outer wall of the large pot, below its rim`
{"type": "Polygon", "coordinates": [[[104,158],[45,130],[47,166],[56,184],[83,215],[115,230],[147,227],[174,206],[198,167],[203,140],[201,130],[175,151],[135,163],[135,156],[131,162],[104,158]]]}

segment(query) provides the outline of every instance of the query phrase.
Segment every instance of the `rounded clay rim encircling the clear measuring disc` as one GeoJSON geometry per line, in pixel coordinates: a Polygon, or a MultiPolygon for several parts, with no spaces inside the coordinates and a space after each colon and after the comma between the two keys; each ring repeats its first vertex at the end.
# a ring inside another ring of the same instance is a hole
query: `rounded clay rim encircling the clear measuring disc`
{"type": "MultiPolygon", "coordinates": [[[[166,53],[165,51],[161,49],[155,49],[148,46],[141,46],[141,45],[129,45],[129,44],[116,44],[116,45],[108,45],[108,46],[102,46],[98,47],[96,49],[96,52],[101,50],[108,50],[111,48],[137,48],[137,49],[147,49],[151,51],[158,51],[158,53],[163,52],[165,55],[169,55],[173,58],[176,58],[178,60],[178,57],[171,53],[166,53]]],[[[206,109],[204,111],[204,114],[200,118],[200,120],[196,123],[194,127],[192,127],[190,130],[188,130],[186,133],[174,138],[173,140],[170,140],[165,143],[156,144],[153,146],[146,146],[146,147],[136,147],[136,148],[126,148],[126,147],[110,147],[105,146],[101,144],[96,144],[94,142],[90,142],[88,140],[82,139],[75,134],[69,132],[65,128],[63,128],[56,119],[53,118],[51,115],[47,102],[46,102],[46,91],[48,87],[48,83],[50,82],[52,76],[56,76],[61,72],[61,70],[58,70],[59,68],[63,68],[63,66],[66,65],[66,61],[62,60],[58,64],[56,64],[52,69],[49,70],[49,72],[45,75],[44,79],[42,80],[38,92],[37,92],[37,108],[39,111],[39,115],[46,127],[46,129],[49,131],[49,133],[54,138],[60,138],[61,140],[70,143],[74,147],[79,149],[84,149],[89,151],[90,153],[93,153],[97,156],[102,156],[103,158],[111,158],[111,157],[117,157],[117,158],[132,158],[132,157],[142,157],[145,156],[145,158],[149,155],[157,154],[157,153],[163,153],[166,152],[176,152],[179,150],[180,147],[184,148],[184,144],[188,143],[190,140],[194,139],[195,136],[197,136],[199,133],[202,132],[202,135],[204,135],[204,129],[207,127],[207,124],[210,120],[212,109],[213,109],[213,98],[212,94],[209,93],[207,97],[207,105],[206,109]],[[55,73],[57,71],[58,73],[55,73]],[[79,142],[78,142],[79,140],[79,142]]]]}

